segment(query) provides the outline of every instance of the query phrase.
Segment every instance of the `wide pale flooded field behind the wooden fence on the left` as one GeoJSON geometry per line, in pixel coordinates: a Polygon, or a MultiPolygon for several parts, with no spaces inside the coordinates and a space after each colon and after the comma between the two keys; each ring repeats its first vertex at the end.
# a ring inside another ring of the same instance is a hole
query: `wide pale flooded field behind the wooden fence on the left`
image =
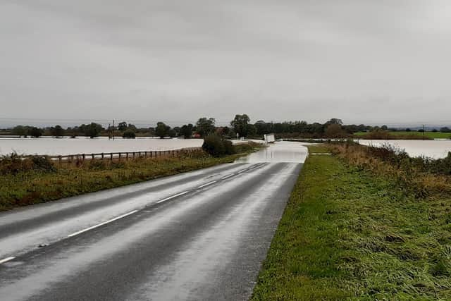
{"type": "Polygon", "coordinates": [[[137,139],[109,140],[108,137],[51,138],[0,138],[0,155],[11,154],[46,154],[49,156],[66,154],[91,154],[108,152],[140,152],[201,147],[202,139],[158,139],[142,137],[137,139]]]}

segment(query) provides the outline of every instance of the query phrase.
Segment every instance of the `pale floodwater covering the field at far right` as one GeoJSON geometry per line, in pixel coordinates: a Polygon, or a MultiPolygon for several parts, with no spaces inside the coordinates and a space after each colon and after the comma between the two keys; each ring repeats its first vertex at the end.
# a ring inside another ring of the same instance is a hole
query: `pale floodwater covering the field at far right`
{"type": "Polygon", "coordinates": [[[440,159],[451,152],[451,140],[359,140],[361,145],[392,145],[404,149],[409,156],[427,156],[440,159]]]}

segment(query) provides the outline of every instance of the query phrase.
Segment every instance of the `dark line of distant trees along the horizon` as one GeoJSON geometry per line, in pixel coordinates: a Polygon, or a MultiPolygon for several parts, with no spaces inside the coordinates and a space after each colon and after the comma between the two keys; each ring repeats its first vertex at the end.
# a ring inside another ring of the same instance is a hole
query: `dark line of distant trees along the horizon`
{"type": "MultiPolygon", "coordinates": [[[[0,135],[16,135],[20,137],[98,137],[98,136],[121,136],[124,138],[135,138],[137,136],[154,137],[205,137],[210,134],[217,134],[221,137],[262,137],[264,134],[275,133],[278,138],[303,137],[303,138],[322,138],[322,137],[352,137],[357,132],[368,132],[376,136],[386,136],[389,131],[405,130],[412,131],[409,128],[388,128],[387,125],[345,125],[341,119],[332,118],[326,123],[307,123],[307,121],[285,121],[283,123],[269,123],[265,121],[250,122],[247,114],[236,115],[229,126],[216,126],[215,118],[202,117],[192,124],[188,123],[182,126],[171,127],[163,122],[156,123],[155,127],[137,128],[132,123],[123,121],[116,126],[110,125],[104,128],[99,123],[82,124],[75,127],[62,128],[55,125],[46,128],[37,128],[27,125],[17,125],[14,128],[0,130],[0,135]]],[[[419,132],[423,130],[418,130],[419,132]]],[[[438,132],[438,129],[432,130],[438,132]]],[[[451,133],[450,128],[440,128],[442,133],[451,133]]],[[[362,136],[361,136],[362,137],[362,136]]]]}

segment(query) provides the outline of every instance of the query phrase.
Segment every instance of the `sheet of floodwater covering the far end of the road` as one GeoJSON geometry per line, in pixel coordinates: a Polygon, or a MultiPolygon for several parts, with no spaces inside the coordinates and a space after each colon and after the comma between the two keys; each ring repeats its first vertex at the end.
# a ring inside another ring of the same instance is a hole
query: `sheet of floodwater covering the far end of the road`
{"type": "Polygon", "coordinates": [[[290,162],[304,163],[309,154],[307,143],[302,142],[276,142],[259,152],[249,154],[237,159],[236,163],[259,163],[259,162],[290,162]]]}

